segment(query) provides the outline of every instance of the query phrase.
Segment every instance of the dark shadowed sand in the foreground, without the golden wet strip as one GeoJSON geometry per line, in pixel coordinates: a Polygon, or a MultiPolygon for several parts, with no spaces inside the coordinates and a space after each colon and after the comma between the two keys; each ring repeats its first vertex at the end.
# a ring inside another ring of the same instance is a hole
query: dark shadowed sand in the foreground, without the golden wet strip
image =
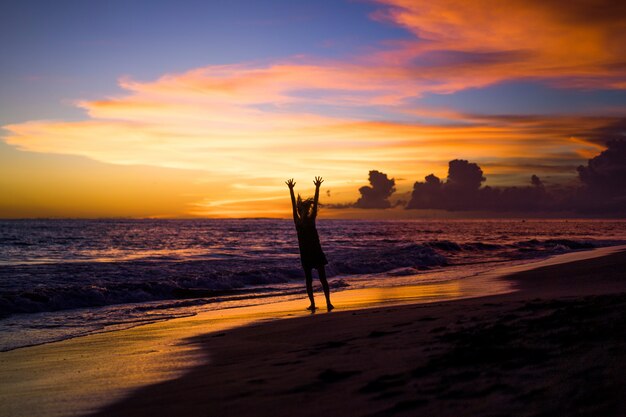
{"type": "Polygon", "coordinates": [[[199,336],[207,364],[96,415],[626,415],[626,254],[507,279],[520,291],[199,336]]]}

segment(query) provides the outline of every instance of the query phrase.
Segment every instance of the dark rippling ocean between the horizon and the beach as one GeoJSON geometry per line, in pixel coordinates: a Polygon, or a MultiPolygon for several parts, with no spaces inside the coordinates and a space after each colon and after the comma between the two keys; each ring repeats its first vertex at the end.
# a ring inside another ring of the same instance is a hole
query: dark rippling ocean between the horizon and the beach
{"type": "MultiPolygon", "coordinates": [[[[331,291],[626,243],[624,220],[319,220],[331,291]]],[[[302,298],[291,220],[2,220],[0,350],[302,298]]]]}

